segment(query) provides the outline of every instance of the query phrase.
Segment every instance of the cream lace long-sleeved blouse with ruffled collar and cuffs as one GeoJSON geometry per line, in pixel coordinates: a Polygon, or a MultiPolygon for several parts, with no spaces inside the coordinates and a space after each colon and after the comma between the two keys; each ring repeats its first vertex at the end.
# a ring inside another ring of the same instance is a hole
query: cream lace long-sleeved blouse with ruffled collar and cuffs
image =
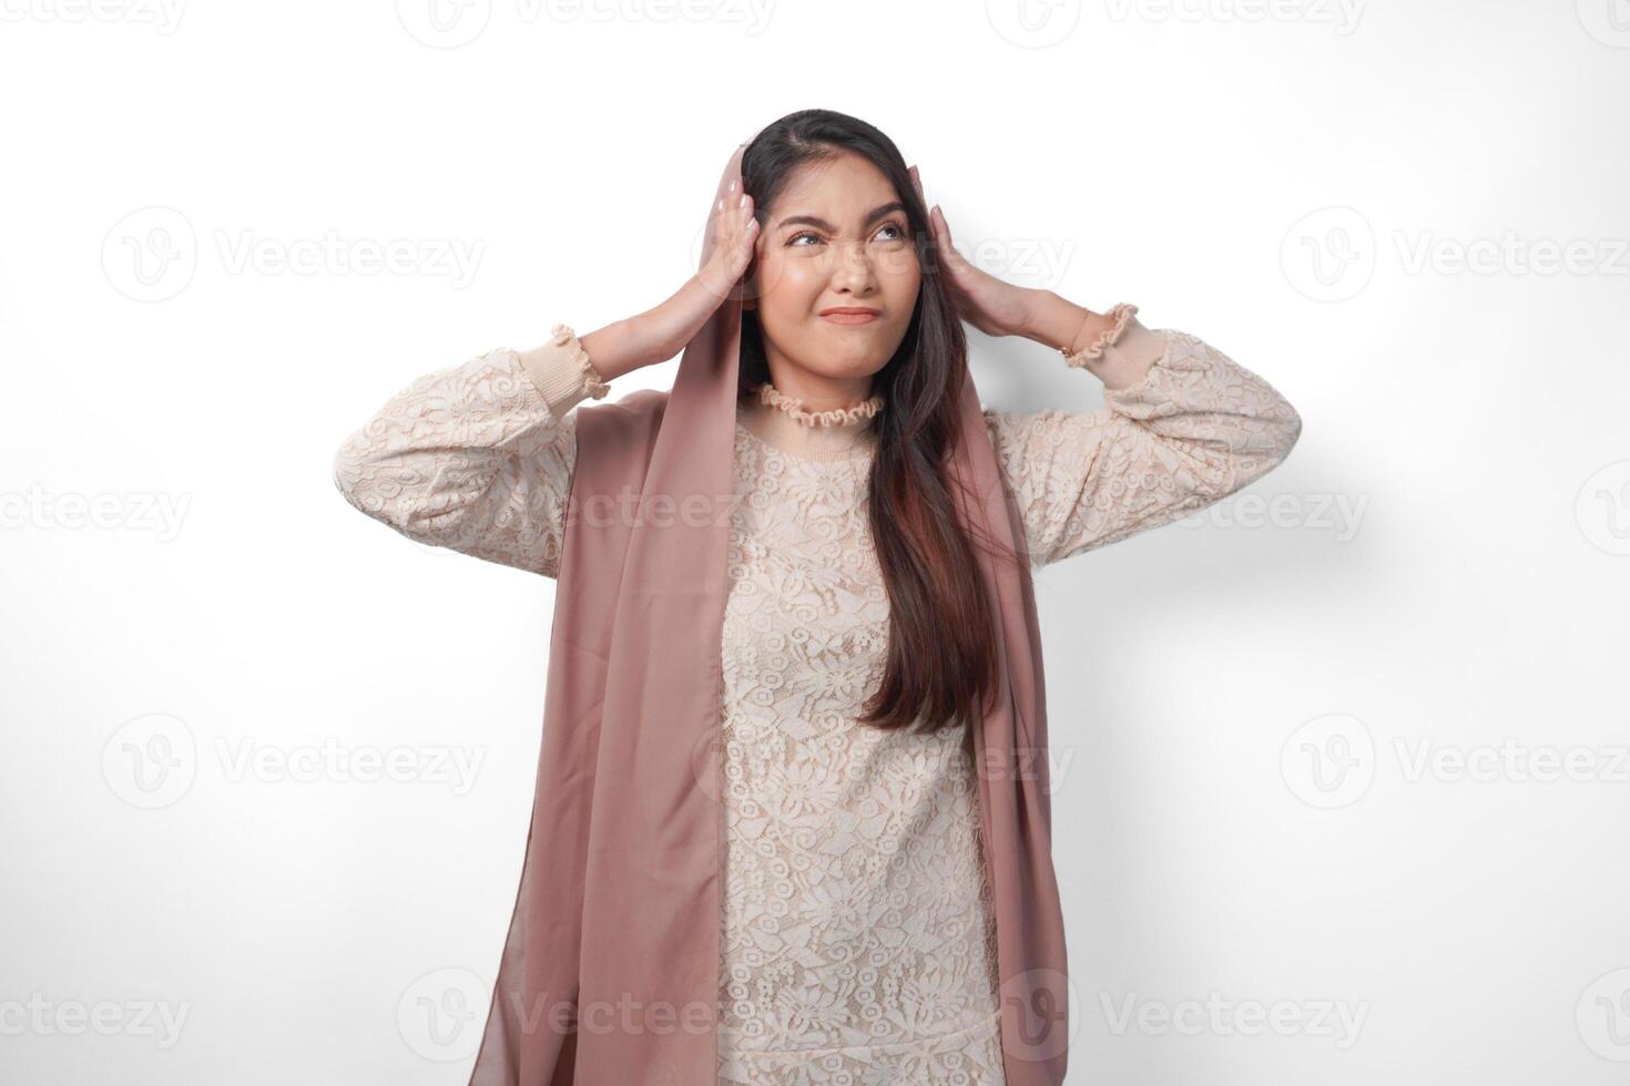
{"type": "MultiPolygon", "coordinates": [[[[1260,477],[1301,433],[1257,374],[1133,306],[1066,363],[1105,407],[986,410],[1032,565],[1165,524],[1260,477]]],[[[334,461],[346,498],[427,544],[554,576],[577,451],[605,396],[561,324],[419,378],[334,461]]],[[[887,410],[887,407],[883,407],[887,410]]],[[[960,733],[854,723],[888,598],[866,521],[874,415],[738,409],[722,632],[725,904],[719,1079],[998,1086],[994,915],[960,733]]]]}

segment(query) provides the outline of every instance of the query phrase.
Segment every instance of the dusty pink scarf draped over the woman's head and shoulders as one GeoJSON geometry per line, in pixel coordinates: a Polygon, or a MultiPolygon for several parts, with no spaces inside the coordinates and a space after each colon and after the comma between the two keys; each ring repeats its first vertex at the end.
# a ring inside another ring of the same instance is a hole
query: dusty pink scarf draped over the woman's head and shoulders
{"type": "MultiPolygon", "coordinates": [[[[714,202],[740,177],[730,156],[714,202]]],[[[740,192],[740,186],[737,187],[740,192]]],[[[717,1083],[720,633],[742,301],[686,345],[670,392],[579,407],[531,829],[471,1086],[717,1083]]],[[[962,383],[949,464],[998,627],[973,731],[1009,1086],[1058,1086],[1069,1042],[1051,861],[1042,645],[1024,526],[962,383]]]]}

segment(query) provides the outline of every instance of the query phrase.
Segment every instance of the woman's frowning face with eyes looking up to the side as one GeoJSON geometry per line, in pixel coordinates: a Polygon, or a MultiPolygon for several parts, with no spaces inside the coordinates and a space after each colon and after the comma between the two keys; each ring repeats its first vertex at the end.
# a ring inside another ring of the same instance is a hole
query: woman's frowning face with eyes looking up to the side
{"type": "Polygon", "coordinates": [[[911,326],[921,269],[905,207],[877,166],[848,151],[800,166],[755,247],[751,304],[771,373],[791,363],[841,381],[888,363],[911,326]]]}

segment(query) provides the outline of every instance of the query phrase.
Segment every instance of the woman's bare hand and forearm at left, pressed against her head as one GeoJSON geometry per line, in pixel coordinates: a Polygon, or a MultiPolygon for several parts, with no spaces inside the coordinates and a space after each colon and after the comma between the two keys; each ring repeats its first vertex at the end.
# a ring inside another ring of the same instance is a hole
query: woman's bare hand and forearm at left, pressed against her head
{"type": "Polygon", "coordinates": [[[758,241],[753,207],[753,197],[732,181],[707,217],[701,269],[657,308],[580,339],[601,379],[667,361],[685,350],[753,262],[758,241]]]}

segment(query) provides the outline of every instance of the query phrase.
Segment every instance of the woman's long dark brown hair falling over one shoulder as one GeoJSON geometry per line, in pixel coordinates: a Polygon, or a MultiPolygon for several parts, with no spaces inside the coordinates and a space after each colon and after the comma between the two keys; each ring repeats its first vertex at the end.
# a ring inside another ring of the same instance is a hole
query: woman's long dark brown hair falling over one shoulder
{"type": "MultiPolygon", "coordinates": [[[[968,379],[968,342],[941,278],[927,208],[893,140],[870,124],[830,109],[802,109],[766,125],[742,155],[742,184],[753,195],[760,230],[792,171],[839,153],[861,155],[893,184],[906,208],[921,265],[911,326],[893,358],[872,378],[885,407],[872,420],[867,519],[888,591],[888,655],[882,684],[859,723],[939,731],[989,712],[998,689],[994,612],[947,479],[963,435],[958,402],[968,379]]],[[[751,269],[750,269],[751,274],[751,269]]],[[[763,329],[742,313],[738,389],[769,379],[763,329]]],[[[1007,547],[986,539],[1014,560],[1007,547]]]]}

